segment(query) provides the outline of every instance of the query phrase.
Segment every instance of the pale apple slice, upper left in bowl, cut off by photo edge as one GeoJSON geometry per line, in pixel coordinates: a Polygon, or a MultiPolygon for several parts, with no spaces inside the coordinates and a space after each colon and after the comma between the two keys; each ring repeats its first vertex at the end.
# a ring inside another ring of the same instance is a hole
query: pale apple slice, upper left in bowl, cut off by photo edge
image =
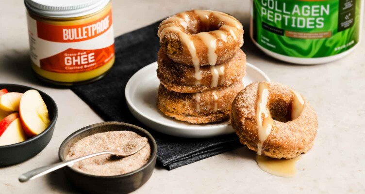
{"type": "Polygon", "coordinates": [[[0,96],[0,109],[4,111],[18,111],[22,93],[8,92],[0,96]]]}

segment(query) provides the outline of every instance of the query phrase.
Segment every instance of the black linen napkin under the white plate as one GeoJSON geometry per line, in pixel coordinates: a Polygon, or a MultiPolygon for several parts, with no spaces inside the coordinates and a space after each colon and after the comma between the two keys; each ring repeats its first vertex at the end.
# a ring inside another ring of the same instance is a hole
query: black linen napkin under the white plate
{"type": "Polygon", "coordinates": [[[106,121],[127,122],[147,129],[156,139],[158,161],[168,170],[241,147],[235,134],[205,139],[161,134],[144,126],[128,110],[125,86],[135,72],[157,60],[159,23],[116,37],[116,61],[110,72],[97,82],[71,90],[106,121]]]}

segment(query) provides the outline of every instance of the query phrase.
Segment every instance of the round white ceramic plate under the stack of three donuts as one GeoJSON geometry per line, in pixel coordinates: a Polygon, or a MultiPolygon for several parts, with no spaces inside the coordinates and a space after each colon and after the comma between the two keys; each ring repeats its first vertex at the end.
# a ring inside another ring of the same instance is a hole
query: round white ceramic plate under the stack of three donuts
{"type": "MultiPolygon", "coordinates": [[[[125,96],[133,116],[146,126],[158,132],[190,138],[212,137],[233,133],[226,122],[214,124],[189,124],[164,116],[156,107],[157,91],[160,84],[156,74],[157,62],[140,69],[128,81],[125,96]]],[[[247,63],[247,73],[243,78],[244,86],[255,81],[270,81],[259,68],[247,63]]]]}

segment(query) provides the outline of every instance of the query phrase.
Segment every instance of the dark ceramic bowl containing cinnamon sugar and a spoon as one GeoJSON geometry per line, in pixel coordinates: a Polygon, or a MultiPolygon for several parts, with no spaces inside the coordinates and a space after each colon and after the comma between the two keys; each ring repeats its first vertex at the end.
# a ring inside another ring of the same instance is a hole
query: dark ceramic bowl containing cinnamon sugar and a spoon
{"type": "Polygon", "coordinates": [[[61,144],[58,156],[65,161],[69,149],[80,139],[97,133],[109,131],[133,131],[148,138],[151,156],[147,164],[141,168],[123,175],[95,176],[89,175],[70,167],[65,168],[67,178],[73,185],[92,194],[127,194],[141,187],[151,177],[156,164],[157,145],[149,132],[132,124],[123,122],[102,122],[84,127],[69,135],[61,144]]]}

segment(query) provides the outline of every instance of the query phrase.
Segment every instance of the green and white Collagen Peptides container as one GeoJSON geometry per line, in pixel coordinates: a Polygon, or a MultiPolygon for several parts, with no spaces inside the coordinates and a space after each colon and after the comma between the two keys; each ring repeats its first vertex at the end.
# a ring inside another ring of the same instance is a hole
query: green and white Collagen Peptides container
{"type": "Polygon", "coordinates": [[[251,39],[276,59],[326,63],[360,43],[364,0],[251,1],[251,39]]]}

